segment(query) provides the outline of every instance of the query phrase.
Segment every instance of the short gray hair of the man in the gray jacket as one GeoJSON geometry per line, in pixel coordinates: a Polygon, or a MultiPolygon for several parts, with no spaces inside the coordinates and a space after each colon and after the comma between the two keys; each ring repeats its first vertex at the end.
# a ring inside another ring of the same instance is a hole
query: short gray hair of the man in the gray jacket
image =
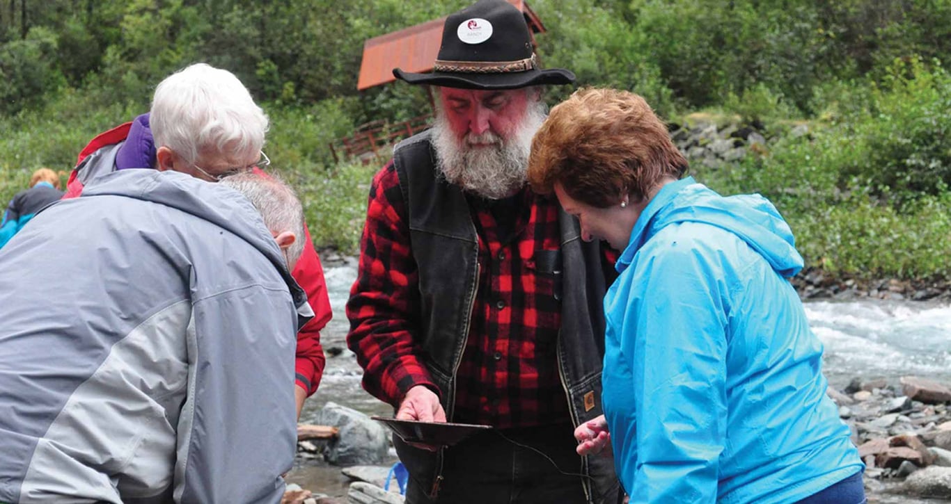
{"type": "Polygon", "coordinates": [[[297,239],[287,249],[288,268],[301,258],[304,240],[301,200],[290,186],[274,175],[240,173],[223,177],[219,182],[246,197],[258,209],[264,226],[275,236],[285,231],[297,239]]]}

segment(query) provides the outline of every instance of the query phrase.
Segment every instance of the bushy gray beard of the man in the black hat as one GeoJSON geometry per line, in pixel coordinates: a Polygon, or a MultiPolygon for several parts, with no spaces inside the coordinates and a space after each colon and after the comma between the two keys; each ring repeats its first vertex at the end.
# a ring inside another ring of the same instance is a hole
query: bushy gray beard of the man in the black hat
{"type": "Polygon", "coordinates": [[[512,138],[502,139],[491,132],[467,134],[457,140],[442,111],[437,113],[432,140],[436,167],[441,177],[463,190],[488,199],[513,196],[525,186],[532,151],[532,139],[545,121],[545,103],[530,103],[512,138]],[[472,148],[469,143],[495,141],[489,147],[472,148]]]}

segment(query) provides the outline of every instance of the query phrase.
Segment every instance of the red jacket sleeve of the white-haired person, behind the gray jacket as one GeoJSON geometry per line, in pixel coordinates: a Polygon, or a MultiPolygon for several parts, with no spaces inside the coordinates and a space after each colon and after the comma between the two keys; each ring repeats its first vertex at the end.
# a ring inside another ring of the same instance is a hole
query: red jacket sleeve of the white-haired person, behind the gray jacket
{"type": "Polygon", "coordinates": [[[291,276],[301,285],[301,289],[307,292],[307,301],[310,308],[314,310],[314,318],[311,319],[301,331],[298,332],[297,356],[294,369],[297,373],[295,383],[307,391],[307,395],[313,394],[318,385],[320,377],[323,375],[323,365],[325,359],[323,356],[323,347],[320,346],[320,329],[330,322],[333,312],[330,309],[330,300],[327,298],[327,285],[323,280],[323,267],[320,265],[320,257],[314,250],[314,244],[310,240],[310,231],[304,228],[304,244],[301,259],[298,260],[291,276]]]}

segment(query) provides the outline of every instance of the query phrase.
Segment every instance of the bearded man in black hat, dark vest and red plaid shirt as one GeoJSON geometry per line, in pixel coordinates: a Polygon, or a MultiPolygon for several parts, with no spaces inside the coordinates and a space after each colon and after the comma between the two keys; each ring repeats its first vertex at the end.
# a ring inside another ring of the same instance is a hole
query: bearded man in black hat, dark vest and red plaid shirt
{"type": "Polygon", "coordinates": [[[494,427],[448,448],[394,438],[406,501],[612,504],[611,457],[573,439],[601,414],[610,264],[526,185],[539,86],[573,73],[539,68],[522,12],[481,0],[446,19],[432,73],[394,74],[437,86],[437,121],[374,177],[347,343],[398,419],[494,427]]]}

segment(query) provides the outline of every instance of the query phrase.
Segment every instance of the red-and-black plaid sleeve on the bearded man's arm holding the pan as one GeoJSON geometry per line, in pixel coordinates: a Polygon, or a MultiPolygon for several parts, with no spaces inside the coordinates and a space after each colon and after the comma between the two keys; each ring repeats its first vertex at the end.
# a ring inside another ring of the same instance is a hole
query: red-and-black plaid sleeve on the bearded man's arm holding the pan
{"type": "Polygon", "coordinates": [[[360,238],[359,271],[350,290],[347,346],[363,367],[363,388],[394,406],[415,385],[437,390],[419,359],[417,265],[392,162],[373,179],[360,238]]]}

